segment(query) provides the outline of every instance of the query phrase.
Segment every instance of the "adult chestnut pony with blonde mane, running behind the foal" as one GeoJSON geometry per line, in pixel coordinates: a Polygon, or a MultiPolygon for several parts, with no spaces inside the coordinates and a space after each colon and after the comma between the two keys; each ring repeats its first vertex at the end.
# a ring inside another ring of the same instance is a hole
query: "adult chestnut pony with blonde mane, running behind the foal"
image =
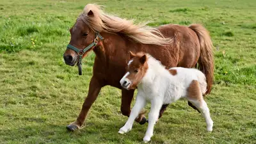
{"type": "MultiPolygon", "coordinates": [[[[191,68],[198,63],[207,79],[206,93],[211,92],[214,61],[208,31],[199,24],[188,27],[166,24],[159,28],[151,28],[146,24],[134,24],[132,20],[109,15],[97,4],[87,4],[84,7],[83,13],[70,28],[71,39],[63,58],[67,65],[77,64],[79,74],[81,60],[88,52],[95,52],[95,61],[88,96],[76,121],[67,125],[69,131],[83,126],[100,89],[106,85],[122,89],[121,112],[125,116],[130,115],[134,90],[125,90],[119,83],[126,71],[129,51],[148,53],[166,68],[191,68]]],[[[167,106],[168,104],[162,106],[159,118],[167,106]]],[[[189,106],[195,108],[191,103],[189,106]]],[[[146,120],[142,112],[136,118],[136,122],[140,124],[144,124],[146,120]]]]}

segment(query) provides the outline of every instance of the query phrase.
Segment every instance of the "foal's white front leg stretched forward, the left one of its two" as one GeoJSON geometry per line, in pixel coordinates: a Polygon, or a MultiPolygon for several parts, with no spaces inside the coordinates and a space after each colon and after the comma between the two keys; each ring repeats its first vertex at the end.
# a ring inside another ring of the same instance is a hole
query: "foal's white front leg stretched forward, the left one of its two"
{"type": "Polygon", "coordinates": [[[134,104],[134,107],[132,108],[131,114],[130,114],[127,122],[125,123],[124,127],[122,127],[118,131],[118,133],[124,134],[126,132],[131,131],[135,118],[139,115],[141,109],[144,108],[145,104],[146,104],[145,98],[141,97],[141,95],[137,95],[136,102],[134,104]]]}

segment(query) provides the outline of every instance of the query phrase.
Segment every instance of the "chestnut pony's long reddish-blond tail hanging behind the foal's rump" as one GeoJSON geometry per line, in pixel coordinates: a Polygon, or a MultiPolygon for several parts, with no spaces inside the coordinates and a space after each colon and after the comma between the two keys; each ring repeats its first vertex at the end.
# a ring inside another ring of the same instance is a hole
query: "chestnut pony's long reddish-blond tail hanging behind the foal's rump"
{"type": "Polygon", "coordinates": [[[212,41],[207,29],[200,24],[191,24],[190,29],[195,31],[200,42],[200,58],[198,60],[199,70],[205,74],[207,81],[207,91],[205,94],[211,92],[214,72],[214,60],[212,54],[212,41]]]}

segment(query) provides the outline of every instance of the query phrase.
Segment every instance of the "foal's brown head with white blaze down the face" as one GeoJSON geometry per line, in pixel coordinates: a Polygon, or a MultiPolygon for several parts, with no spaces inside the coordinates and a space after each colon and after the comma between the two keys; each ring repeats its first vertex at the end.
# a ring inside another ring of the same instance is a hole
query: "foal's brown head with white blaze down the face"
{"type": "Polygon", "coordinates": [[[133,54],[130,51],[130,61],[127,63],[127,72],[120,80],[120,84],[127,90],[136,89],[148,69],[146,54],[133,54]]]}

